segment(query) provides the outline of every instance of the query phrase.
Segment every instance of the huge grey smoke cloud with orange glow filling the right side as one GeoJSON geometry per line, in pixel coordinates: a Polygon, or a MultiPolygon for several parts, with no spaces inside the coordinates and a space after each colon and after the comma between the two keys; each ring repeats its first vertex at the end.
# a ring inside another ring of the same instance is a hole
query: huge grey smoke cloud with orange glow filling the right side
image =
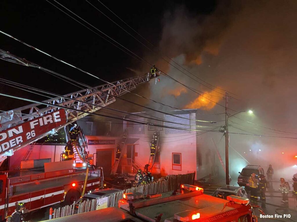
{"type": "MultiPolygon", "coordinates": [[[[220,4],[212,15],[201,17],[181,6],[164,15],[160,51],[203,80],[235,93],[240,100],[231,99],[231,109],[254,111],[253,115],[240,113],[237,117],[257,125],[297,132],[296,10],[296,1],[234,1],[220,4]]],[[[192,88],[214,93],[161,59],[156,66],[192,88]]],[[[146,95],[152,99],[183,108],[198,97],[185,89],[174,95],[171,92],[183,87],[165,76],[160,78],[160,83],[151,82],[145,86],[146,95]]],[[[140,93],[143,94],[143,91],[140,93]]],[[[225,103],[223,99],[218,102],[225,103]]],[[[167,109],[153,103],[147,104],[167,109]]],[[[224,112],[224,108],[215,105],[211,110],[201,109],[201,112],[220,113],[224,112]]],[[[201,115],[201,119],[219,120],[224,117],[201,115]]],[[[234,117],[230,120],[233,121],[230,122],[230,132],[297,137],[297,134],[278,134],[234,117]]],[[[219,143],[221,136],[207,133],[203,138],[214,138],[219,143]]],[[[291,178],[297,171],[293,167],[297,164],[297,158],[294,159],[297,155],[296,139],[230,134],[230,145],[251,164],[261,164],[264,170],[267,170],[268,164],[272,164],[278,177],[291,178]]],[[[218,146],[224,156],[224,143],[220,142],[218,146]]],[[[238,168],[246,164],[236,152],[230,150],[230,172],[233,177],[238,175],[238,168]]]]}

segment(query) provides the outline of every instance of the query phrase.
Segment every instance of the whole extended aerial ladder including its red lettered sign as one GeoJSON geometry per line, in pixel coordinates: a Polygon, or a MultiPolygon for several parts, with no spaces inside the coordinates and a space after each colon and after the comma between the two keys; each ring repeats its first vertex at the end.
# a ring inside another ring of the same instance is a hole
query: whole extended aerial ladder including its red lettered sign
{"type": "MultiPolygon", "coordinates": [[[[33,63],[28,62],[26,59],[12,55],[1,49],[0,59],[19,65],[33,66],[33,63]]],[[[48,104],[46,106],[44,104],[33,103],[8,110],[7,112],[1,112],[0,164],[3,163],[3,160],[5,160],[7,156],[13,155],[17,150],[61,128],[65,128],[69,124],[89,115],[89,113],[96,112],[101,109],[101,107],[108,106],[116,101],[116,96],[124,95],[158,76],[159,73],[149,72],[42,101],[48,104]],[[60,107],[56,107],[55,105],[60,107]],[[61,107],[65,107],[65,109],[61,107]],[[59,118],[57,118],[57,116],[59,116],[59,118]],[[55,124],[51,123],[58,120],[59,122],[55,124]],[[46,126],[45,121],[49,123],[46,126]],[[42,125],[39,127],[39,133],[30,130],[27,131],[26,127],[30,127],[34,124],[38,125],[38,122],[42,125]],[[16,135],[16,133],[19,134],[16,135]]],[[[65,129],[65,131],[67,130],[65,129]]],[[[80,142],[81,145],[87,144],[86,140],[83,140],[83,138],[80,142]]]]}

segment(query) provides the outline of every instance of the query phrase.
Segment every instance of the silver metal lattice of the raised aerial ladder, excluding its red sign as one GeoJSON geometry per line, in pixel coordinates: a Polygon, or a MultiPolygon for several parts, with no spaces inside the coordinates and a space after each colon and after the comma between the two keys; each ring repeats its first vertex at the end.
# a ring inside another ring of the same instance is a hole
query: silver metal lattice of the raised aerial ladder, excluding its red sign
{"type": "MultiPolygon", "coordinates": [[[[19,65],[33,67],[36,66],[23,58],[17,57],[3,50],[0,50],[0,59],[3,59],[8,62],[13,62],[19,65]]],[[[62,107],[73,109],[65,109],[67,123],[53,129],[57,131],[60,128],[67,126],[68,124],[73,123],[76,120],[85,117],[86,115],[89,115],[85,112],[96,112],[102,107],[105,107],[115,102],[116,97],[114,96],[121,96],[123,94],[126,94],[127,91],[136,89],[139,85],[147,83],[151,79],[156,77],[157,75],[146,73],[144,75],[114,81],[112,83],[83,89],[60,97],[55,97],[53,99],[42,101],[44,103],[48,103],[46,107],[44,107],[44,105],[42,104],[34,103],[20,108],[16,108],[14,110],[9,110],[7,112],[2,112],[0,113],[0,133],[1,131],[8,129],[10,127],[18,126],[19,124],[33,120],[36,117],[45,116],[48,113],[61,109],[60,107],[56,107],[54,105],[59,105],[62,107]]],[[[34,141],[37,141],[40,138],[49,135],[50,133],[51,132],[48,131],[38,137],[32,137],[28,141],[20,144],[20,146],[13,147],[10,150],[6,150],[6,152],[0,153],[0,163],[6,159],[7,155],[12,155],[13,152],[17,151],[18,149],[21,149],[22,147],[31,144],[34,141]]]]}

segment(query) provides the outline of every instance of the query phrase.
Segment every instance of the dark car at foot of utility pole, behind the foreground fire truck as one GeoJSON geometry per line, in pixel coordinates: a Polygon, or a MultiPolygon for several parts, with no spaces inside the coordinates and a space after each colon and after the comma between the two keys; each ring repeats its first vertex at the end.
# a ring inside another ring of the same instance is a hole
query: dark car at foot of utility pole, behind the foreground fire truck
{"type": "Polygon", "coordinates": [[[238,197],[248,198],[247,192],[245,192],[242,186],[231,186],[224,185],[218,188],[213,194],[213,197],[219,197],[221,199],[227,200],[227,196],[234,195],[238,197]]]}

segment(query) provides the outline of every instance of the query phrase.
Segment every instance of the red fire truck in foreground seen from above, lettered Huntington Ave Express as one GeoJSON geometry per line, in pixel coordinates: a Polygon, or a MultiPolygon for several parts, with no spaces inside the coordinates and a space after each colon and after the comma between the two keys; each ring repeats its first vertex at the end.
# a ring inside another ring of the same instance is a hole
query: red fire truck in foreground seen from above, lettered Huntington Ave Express
{"type": "Polygon", "coordinates": [[[102,222],[257,222],[249,199],[230,195],[224,200],[203,194],[202,188],[188,184],[182,184],[178,191],[154,195],[126,193],[118,207],[75,214],[50,222],[93,222],[98,218],[102,222]]]}

